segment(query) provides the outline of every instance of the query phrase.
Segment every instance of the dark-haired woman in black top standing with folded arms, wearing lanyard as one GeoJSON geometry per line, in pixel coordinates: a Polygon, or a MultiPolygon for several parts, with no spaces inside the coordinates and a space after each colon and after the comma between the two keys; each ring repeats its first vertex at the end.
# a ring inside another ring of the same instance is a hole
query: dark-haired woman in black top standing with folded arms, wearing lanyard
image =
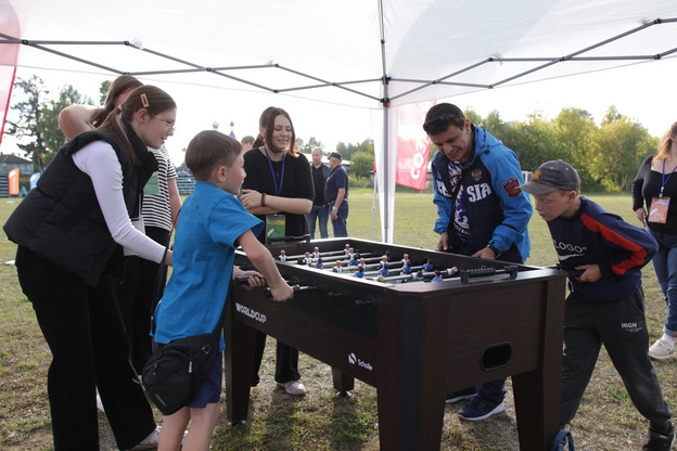
{"type": "MultiPolygon", "coordinates": [[[[259,119],[259,136],[254,147],[244,154],[246,178],[241,201],[252,215],[265,222],[258,240],[302,236],[307,233],[305,215],[315,197],[308,158],[294,152],[296,136],[292,118],[282,108],[270,106],[259,119]]],[[[259,382],[266,334],[257,333],[252,386],[259,382]]],[[[276,383],[290,395],[305,395],[298,382],[298,350],[278,342],[276,383]]]]}

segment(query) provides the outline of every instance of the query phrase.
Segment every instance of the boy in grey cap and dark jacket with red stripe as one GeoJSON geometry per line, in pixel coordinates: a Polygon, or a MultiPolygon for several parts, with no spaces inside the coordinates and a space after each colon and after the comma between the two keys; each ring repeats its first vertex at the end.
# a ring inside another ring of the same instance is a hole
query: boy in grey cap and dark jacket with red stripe
{"type": "Polygon", "coordinates": [[[520,186],[548,222],[563,270],[570,276],[564,313],[560,423],[570,423],[592,376],[603,344],[630,400],[649,420],[643,451],[669,450],[675,429],[648,356],[641,269],[656,252],[646,231],[580,197],[576,170],[562,160],[544,163],[520,186]]]}

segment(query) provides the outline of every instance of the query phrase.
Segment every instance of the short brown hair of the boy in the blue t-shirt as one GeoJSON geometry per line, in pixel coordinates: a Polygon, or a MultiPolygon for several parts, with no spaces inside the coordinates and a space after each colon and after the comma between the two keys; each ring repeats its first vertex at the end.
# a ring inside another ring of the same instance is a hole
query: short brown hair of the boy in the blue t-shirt
{"type": "Polygon", "coordinates": [[[186,166],[195,180],[206,181],[216,166],[230,167],[241,151],[242,144],[237,139],[220,131],[204,130],[188,144],[186,166]]]}

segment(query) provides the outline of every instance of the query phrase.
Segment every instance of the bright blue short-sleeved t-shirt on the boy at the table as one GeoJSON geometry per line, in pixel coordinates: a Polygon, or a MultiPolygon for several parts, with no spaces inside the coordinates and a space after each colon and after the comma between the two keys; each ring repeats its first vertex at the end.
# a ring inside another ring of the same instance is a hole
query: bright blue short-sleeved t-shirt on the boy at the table
{"type": "MultiPolygon", "coordinates": [[[[223,310],[237,240],[257,235],[263,222],[240,201],[212,183],[197,182],[181,207],[174,239],[174,269],[155,309],[155,342],[213,332],[223,310]]],[[[222,346],[222,345],[221,345],[222,346]]]]}

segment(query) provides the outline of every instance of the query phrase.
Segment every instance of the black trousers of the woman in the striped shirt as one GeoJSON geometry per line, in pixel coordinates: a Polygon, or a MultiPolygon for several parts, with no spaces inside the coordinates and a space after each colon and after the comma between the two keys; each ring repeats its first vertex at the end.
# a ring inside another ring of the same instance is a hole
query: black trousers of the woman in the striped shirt
{"type": "MultiPolygon", "coordinates": [[[[146,227],[145,234],[156,243],[167,246],[169,231],[146,227]]],[[[151,317],[162,297],[167,281],[167,267],[137,256],[125,257],[123,280],[115,288],[123,321],[131,346],[131,364],[137,374],[151,357],[151,317]]]]}

